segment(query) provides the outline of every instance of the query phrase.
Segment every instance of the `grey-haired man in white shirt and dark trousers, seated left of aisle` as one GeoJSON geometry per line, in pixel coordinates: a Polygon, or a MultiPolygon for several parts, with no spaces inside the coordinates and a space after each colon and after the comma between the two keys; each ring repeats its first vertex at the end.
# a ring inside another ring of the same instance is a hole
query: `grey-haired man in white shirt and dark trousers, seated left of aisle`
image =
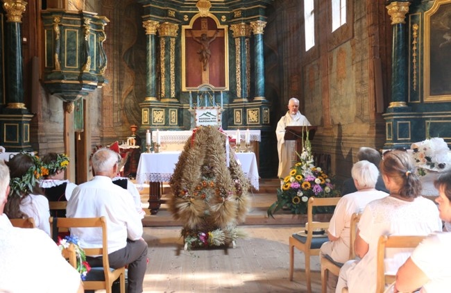
{"type": "MultiPolygon", "coordinates": [[[[96,176],[78,185],[67,203],[67,217],[104,216],[108,227],[108,260],[113,268],[128,265],[128,292],[140,293],[147,267],[147,243],[142,239],[142,222],[127,190],[112,183],[121,158],[110,149],[92,156],[96,176]]],[[[100,247],[102,235],[90,228],[72,228],[71,234],[83,247],[100,247]]],[[[96,265],[101,258],[90,260],[96,265]]]]}

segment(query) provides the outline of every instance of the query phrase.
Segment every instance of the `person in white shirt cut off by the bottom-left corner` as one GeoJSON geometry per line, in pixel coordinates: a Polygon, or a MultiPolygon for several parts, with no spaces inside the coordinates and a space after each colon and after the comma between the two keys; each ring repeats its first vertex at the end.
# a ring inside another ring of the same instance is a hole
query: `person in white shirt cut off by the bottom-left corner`
{"type": "Polygon", "coordinates": [[[83,293],[78,271],[40,229],[15,228],[3,213],[9,169],[0,160],[0,292],[83,293]]]}

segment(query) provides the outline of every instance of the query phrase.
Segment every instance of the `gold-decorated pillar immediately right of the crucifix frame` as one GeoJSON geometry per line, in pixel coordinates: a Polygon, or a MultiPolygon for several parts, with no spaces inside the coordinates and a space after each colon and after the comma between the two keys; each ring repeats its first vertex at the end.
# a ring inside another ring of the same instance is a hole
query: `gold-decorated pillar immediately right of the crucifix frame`
{"type": "MultiPolygon", "coordinates": [[[[230,25],[235,37],[235,66],[237,68],[237,102],[248,101],[250,88],[250,54],[249,37],[251,28],[248,24],[230,25]]],[[[234,101],[234,102],[235,102],[234,101]]]]}

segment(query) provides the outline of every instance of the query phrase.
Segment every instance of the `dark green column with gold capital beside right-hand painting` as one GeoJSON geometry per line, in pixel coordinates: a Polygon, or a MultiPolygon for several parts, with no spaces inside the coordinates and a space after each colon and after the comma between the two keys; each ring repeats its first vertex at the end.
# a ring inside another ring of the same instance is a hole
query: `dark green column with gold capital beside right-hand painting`
{"type": "Polygon", "coordinates": [[[393,26],[393,53],[391,77],[391,103],[389,108],[407,107],[407,39],[405,15],[409,12],[408,1],[393,1],[386,6],[393,26]]]}

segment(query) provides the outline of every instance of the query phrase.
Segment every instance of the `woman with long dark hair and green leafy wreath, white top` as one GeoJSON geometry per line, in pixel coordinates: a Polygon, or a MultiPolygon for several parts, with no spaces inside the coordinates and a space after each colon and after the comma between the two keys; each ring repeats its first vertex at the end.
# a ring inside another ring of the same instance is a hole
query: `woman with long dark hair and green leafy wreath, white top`
{"type": "Polygon", "coordinates": [[[38,179],[42,162],[29,153],[18,153],[6,162],[10,169],[10,194],[5,206],[5,214],[10,219],[31,217],[36,228],[50,236],[49,201],[43,195],[38,179]]]}

